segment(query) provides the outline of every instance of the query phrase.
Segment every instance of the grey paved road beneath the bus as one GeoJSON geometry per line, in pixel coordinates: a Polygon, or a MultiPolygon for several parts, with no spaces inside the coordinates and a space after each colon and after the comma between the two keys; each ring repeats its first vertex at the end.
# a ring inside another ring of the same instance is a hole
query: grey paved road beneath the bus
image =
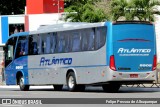
{"type": "MultiPolygon", "coordinates": [[[[136,88],[136,87],[121,87],[118,93],[105,93],[101,87],[87,87],[85,92],[68,92],[64,87],[63,91],[53,91],[52,86],[32,86],[30,91],[23,92],[18,86],[0,86],[0,98],[160,98],[160,88],[136,88]]],[[[138,104],[137,104],[138,105],[138,104]]],[[[136,105],[136,106],[137,106],[136,105]]],[[[10,106],[28,106],[36,107],[35,105],[0,105],[0,107],[10,106]]],[[[37,105],[37,107],[46,105],[37,105]]],[[[99,105],[47,105],[50,107],[97,107],[99,105]]],[[[109,104],[101,104],[101,107],[108,107],[109,104]]],[[[113,105],[112,105],[113,106],[113,105]]],[[[114,105],[118,107],[119,105],[114,105]]],[[[128,105],[123,105],[128,106],[128,105]]],[[[131,106],[131,105],[129,105],[131,106]]],[[[148,106],[148,105],[145,105],[148,106]]],[[[154,106],[159,106],[154,105],[154,106]]]]}

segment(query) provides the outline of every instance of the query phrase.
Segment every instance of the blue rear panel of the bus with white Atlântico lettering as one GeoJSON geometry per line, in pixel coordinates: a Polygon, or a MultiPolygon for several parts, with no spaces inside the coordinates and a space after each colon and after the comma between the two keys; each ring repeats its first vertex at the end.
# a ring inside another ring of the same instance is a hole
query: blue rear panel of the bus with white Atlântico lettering
{"type": "Polygon", "coordinates": [[[117,71],[152,71],[156,61],[152,24],[113,25],[113,53],[117,71]]]}

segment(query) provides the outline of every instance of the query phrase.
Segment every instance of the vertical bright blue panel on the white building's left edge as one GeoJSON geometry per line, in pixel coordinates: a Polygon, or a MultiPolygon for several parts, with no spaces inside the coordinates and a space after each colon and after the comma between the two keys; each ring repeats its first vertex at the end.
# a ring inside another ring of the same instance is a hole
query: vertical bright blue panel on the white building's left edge
{"type": "Polygon", "coordinates": [[[9,26],[8,26],[8,17],[1,18],[2,24],[2,43],[6,43],[9,37],[9,26]]]}

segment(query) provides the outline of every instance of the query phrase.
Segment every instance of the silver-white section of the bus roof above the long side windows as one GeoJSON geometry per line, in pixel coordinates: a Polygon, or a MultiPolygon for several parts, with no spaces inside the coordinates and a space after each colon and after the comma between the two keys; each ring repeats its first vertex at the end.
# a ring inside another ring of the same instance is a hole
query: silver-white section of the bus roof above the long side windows
{"type": "Polygon", "coordinates": [[[67,31],[74,29],[83,29],[83,28],[91,28],[91,27],[99,27],[104,26],[105,22],[100,23],[84,23],[84,22],[72,22],[72,23],[63,23],[57,25],[47,25],[41,26],[36,31],[31,31],[30,34],[39,34],[39,33],[49,33],[49,32],[59,32],[59,31],[67,31]]]}

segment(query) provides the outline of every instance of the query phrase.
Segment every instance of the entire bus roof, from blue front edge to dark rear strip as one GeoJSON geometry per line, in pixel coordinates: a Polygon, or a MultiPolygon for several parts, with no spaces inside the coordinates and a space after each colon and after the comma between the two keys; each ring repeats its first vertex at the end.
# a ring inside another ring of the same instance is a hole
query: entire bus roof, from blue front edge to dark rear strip
{"type": "MultiPolygon", "coordinates": [[[[109,22],[109,23],[113,23],[113,24],[129,24],[129,23],[152,24],[151,22],[146,22],[146,21],[117,21],[117,22],[109,22]]],[[[9,38],[16,37],[16,36],[28,36],[28,35],[40,34],[40,33],[60,32],[60,31],[68,31],[68,30],[75,30],[75,29],[100,27],[104,25],[105,25],[105,22],[99,22],[99,23],[68,22],[68,23],[54,24],[54,25],[42,25],[36,31],[15,33],[15,34],[12,34],[9,38]]]]}

